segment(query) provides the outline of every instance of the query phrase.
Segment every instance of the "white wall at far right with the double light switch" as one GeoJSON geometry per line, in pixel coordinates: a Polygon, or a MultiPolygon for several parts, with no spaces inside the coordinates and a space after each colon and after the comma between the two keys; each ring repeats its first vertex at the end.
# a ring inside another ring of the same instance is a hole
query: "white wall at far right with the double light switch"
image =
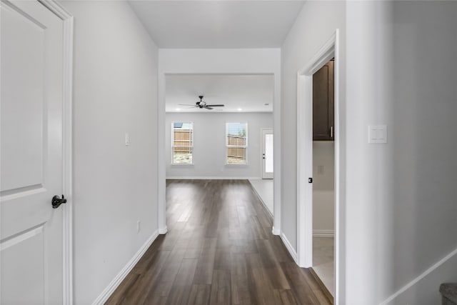
{"type": "Polygon", "coordinates": [[[411,284],[391,303],[439,304],[455,256],[413,279],[457,248],[457,3],[348,1],[346,17],[346,303],[411,284]]]}

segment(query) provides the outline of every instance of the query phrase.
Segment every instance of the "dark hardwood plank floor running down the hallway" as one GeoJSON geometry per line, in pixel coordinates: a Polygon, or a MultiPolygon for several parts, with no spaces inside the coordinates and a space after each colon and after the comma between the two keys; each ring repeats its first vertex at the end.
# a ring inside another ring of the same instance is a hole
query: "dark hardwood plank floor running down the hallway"
{"type": "Polygon", "coordinates": [[[247,180],[166,181],[166,216],[106,304],[330,304],[247,180]]]}

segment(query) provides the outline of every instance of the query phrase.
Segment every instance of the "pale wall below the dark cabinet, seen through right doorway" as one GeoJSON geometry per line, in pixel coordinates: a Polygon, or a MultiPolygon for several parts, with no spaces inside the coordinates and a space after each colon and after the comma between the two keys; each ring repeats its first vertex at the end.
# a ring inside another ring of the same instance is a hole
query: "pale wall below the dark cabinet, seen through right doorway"
{"type": "Polygon", "coordinates": [[[313,141],[313,231],[333,233],[335,145],[313,141]]]}

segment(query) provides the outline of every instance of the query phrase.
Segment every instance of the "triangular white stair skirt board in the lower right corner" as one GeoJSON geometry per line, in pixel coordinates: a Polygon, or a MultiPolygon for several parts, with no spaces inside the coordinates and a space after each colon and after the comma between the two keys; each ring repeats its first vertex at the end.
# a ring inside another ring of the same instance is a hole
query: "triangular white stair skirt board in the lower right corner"
{"type": "Polygon", "coordinates": [[[457,249],[433,264],[421,275],[410,281],[395,294],[389,296],[381,305],[386,304],[441,304],[438,293],[440,284],[455,282],[457,279],[457,249]]]}

